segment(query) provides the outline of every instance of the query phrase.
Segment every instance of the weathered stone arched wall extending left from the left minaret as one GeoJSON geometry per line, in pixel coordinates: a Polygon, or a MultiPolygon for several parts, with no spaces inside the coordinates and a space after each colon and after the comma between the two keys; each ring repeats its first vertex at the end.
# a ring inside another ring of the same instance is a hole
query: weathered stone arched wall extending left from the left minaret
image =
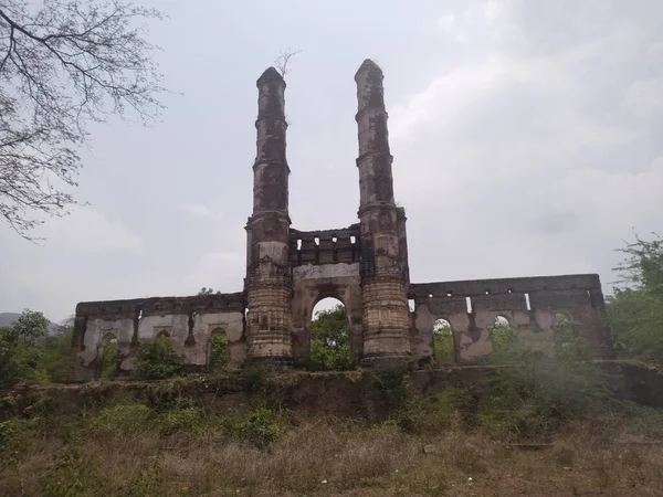
{"type": "Polygon", "coordinates": [[[241,366],[246,355],[244,294],[81,303],[72,339],[75,377],[98,376],[104,347],[112,339],[117,343],[120,371],[130,372],[140,346],[161,335],[171,338],[175,352],[189,369],[204,370],[215,330],[228,338],[231,363],[241,366]]]}

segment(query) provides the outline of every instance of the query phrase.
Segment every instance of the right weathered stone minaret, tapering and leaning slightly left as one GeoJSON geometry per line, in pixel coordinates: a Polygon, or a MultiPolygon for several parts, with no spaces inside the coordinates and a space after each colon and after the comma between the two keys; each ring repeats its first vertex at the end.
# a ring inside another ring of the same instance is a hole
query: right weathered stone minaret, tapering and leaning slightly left
{"type": "Polygon", "coordinates": [[[402,241],[399,243],[399,232],[404,230],[404,212],[393,200],[382,78],[382,71],[371,60],[364,61],[355,75],[365,366],[410,353],[408,256],[402,241]]]}

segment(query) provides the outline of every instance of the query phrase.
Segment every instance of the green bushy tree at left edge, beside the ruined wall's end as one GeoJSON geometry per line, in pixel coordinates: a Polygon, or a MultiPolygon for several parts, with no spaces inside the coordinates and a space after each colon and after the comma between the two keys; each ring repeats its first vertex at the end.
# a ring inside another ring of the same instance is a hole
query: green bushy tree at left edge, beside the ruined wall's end
{"type": "Polygon", "coordinates": [[[49,320],[42,313],[23,310],[12,325],[0,327],[0,390],[13,387],[19,381],[43,381],[40,369],[49,320]]]}

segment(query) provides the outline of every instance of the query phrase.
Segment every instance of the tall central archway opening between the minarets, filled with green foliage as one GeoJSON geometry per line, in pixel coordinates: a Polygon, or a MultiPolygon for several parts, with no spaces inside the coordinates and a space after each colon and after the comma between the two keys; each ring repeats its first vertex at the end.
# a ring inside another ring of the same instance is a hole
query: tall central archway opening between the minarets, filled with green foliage
{"type": "Polygon", "coordinates": [[[350,330],[343,303],[323,298],[313,308],[311,324],[309,368],[314,371],[352,369],[350,330]]]}

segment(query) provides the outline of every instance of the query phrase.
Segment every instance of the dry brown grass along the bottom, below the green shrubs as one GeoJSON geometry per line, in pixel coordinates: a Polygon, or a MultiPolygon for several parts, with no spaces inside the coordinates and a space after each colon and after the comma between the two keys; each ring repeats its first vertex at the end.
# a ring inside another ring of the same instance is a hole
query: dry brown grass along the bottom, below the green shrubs
{"type": "Polygon", "coordinates": [[[663,445],[618,443],[624,432],[591,423],[570,427],[550,447],[523,451],[459,427],[412,435],[392,423],[290,417],[283,436],[259,450],[229,436],[225,421],[208,417],[168,436],[149,425],[75,422],[66,431],[42,422],[19,461],[0,472],[0,495],[659,496],[663,489],[663,445]],[[430,444],[436,452],[424,454],[430,444]],[[63,446],[80,455],[54,465],[63,446]],[[44,475],[81,486],[40,494],[44,475]]]}

